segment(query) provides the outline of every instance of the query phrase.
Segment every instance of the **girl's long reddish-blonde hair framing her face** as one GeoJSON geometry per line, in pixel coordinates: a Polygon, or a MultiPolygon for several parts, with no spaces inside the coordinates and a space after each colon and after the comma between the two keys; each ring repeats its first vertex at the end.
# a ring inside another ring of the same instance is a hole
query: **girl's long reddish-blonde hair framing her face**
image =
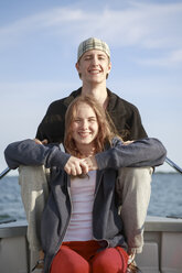
{"type": "Polygon", "coordinates": [[[64,145],[66,152],[74,156],[81,157],[82,154],[76,148],[75,141],[73,139],[72,132],[72,123],[76,116],[76,110],[79,105],[86,103],[95,112],[97,122],[98,122],[98,134],[95,139],[95,152],[104,151],[105,144],[111,143],[111,139],[116,135],[115,125],[109,118],[109,116],[105,112],[104,108],[98,103],[98,101],[92,96],[79,96],[73,100],[73,102],[68,106],[66,116],[65,116],[65,136],[64,136],[64,145]]]}

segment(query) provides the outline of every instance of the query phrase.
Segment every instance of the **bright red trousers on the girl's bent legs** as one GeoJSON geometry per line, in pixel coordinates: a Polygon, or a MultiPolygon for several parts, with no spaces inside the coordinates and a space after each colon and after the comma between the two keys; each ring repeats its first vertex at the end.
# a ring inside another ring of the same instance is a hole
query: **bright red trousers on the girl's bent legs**
{"type": "Polygon", "coordinates": [[[128,254],[120,247],[101,251],[97,241],[64,242],[55,255],[51,273],[125,273],[128,254]]]}

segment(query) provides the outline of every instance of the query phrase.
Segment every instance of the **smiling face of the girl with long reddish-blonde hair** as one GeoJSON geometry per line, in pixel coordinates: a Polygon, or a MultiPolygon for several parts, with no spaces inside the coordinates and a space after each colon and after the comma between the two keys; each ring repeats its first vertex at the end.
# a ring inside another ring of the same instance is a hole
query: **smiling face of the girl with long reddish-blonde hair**
{"type": "Polygon", "coordinates": [[[98,122],[95,111],[87,103],[81,103],[76,107],[72,132],[77,149],[94,143],[98,133],[98,122]]]}

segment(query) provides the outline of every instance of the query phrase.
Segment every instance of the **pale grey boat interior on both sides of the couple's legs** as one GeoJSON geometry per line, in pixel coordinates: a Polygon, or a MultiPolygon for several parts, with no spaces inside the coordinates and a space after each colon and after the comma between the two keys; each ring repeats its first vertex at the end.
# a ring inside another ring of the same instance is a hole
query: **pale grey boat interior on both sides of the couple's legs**
{"type": "MultiPolygon", "coordinates": [[[[35,260],[36,253],[29,251],[26,222],[0,225],[0,272],[30,273],[35,260]]],[[[182,273],[182,219],[147,217],[144,247],[136,261],[142,273],[182,273]]]]}

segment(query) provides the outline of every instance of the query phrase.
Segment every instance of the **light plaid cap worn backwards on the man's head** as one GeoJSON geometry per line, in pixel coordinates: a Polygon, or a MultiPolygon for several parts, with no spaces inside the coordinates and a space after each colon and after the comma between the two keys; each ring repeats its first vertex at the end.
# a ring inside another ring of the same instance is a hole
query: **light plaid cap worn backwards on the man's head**
{"type": "Polygon", "coordinates": [[[85,52],[90,51],[90,50],[103,51],[108,55],[108,57],[110,57],[109,46],[104,41],[97,37],[89,37],[79,44],[78,51],[77,51],[77,62],[79,61],[79,58],[85,52]]]}

